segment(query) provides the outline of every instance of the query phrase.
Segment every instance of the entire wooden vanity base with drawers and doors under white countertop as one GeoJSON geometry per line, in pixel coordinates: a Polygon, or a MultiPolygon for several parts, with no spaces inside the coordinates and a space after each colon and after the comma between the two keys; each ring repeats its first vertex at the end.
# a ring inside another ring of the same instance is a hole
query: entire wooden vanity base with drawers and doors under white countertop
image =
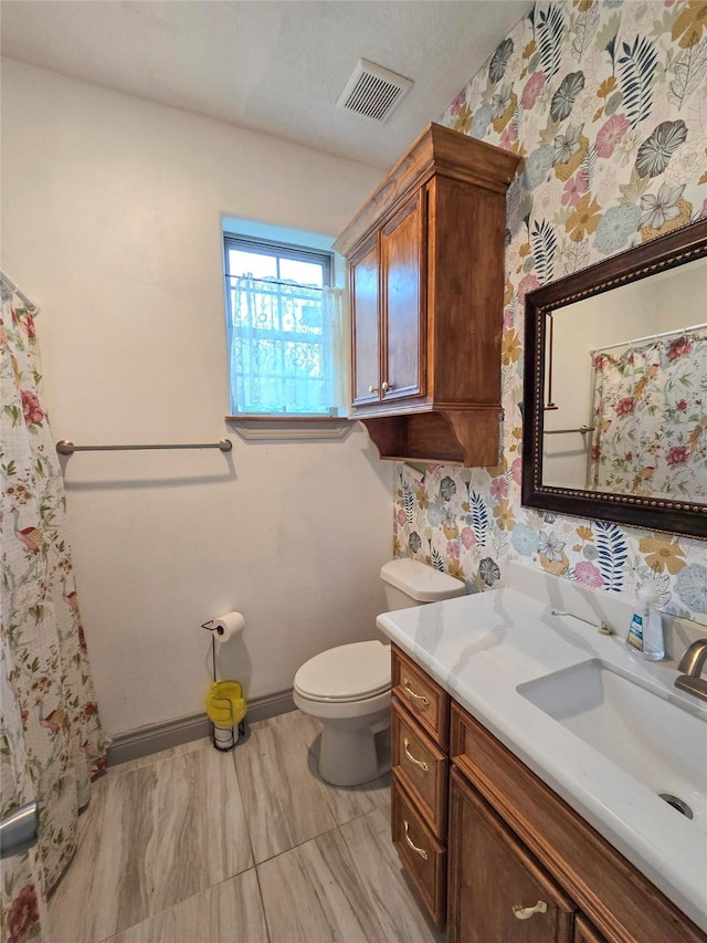
{"type": "Polygon", "coordinates": [[[391,656],[393,844],[450,943],[707,943],[420,666],[391,656]]]}

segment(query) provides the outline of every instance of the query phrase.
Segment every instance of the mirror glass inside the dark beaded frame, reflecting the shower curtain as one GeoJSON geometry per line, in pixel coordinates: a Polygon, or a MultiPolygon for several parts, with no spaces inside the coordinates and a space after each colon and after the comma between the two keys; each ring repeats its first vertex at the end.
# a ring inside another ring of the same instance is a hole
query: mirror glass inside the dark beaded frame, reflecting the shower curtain
{"type": "Polygon", "coordinates": [[[707,503],[707,259],[545,316],[542,485],[707,503]]]}

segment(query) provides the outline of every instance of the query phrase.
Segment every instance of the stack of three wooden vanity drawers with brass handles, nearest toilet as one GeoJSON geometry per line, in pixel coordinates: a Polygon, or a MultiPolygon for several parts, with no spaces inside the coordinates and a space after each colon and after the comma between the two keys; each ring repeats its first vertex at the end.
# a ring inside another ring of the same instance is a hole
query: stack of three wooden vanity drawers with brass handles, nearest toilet
{"type": "Polygon", "coordinates": [[[400,860],[435,925],[446,921],[450,695],[392,646],[391,819],[400,860]]]}

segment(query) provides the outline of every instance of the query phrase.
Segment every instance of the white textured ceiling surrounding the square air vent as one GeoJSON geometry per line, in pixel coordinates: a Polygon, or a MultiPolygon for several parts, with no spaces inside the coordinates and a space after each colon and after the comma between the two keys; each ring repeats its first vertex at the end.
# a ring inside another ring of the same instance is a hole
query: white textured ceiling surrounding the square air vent
{"type": "Polygon", "coordinates": [[[529,0],[2,0],[2,54],[387,169],[529,0]],[[412,78],[390,119],[336,107],[360,57],[412,78]]]}

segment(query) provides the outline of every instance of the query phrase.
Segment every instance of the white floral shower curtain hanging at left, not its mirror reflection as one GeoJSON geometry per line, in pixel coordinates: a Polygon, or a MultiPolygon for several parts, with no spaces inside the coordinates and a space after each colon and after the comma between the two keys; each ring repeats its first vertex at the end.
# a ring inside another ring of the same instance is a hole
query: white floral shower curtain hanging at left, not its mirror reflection
{"type": "Polygon", "coordinates": [[[106,757],[34,323],[9,291],[1,301],[0,817],[39,805],[36,847],[2,862],[1,916],[2,940],[24,943],[46,935],[46,894],[74,853],[78,809],[106,757]]]}

